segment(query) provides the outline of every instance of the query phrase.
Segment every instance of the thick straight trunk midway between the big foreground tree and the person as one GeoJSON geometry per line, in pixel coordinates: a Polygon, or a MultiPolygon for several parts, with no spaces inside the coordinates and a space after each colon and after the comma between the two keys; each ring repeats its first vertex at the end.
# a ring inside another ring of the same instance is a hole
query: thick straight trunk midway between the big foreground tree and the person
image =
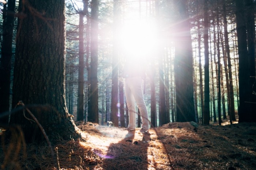
{"type": "Polygon", "coordinates": [[[91,63],[88,121],[99,123],[98,107],[98,0],[91,1],[91,63]]]}

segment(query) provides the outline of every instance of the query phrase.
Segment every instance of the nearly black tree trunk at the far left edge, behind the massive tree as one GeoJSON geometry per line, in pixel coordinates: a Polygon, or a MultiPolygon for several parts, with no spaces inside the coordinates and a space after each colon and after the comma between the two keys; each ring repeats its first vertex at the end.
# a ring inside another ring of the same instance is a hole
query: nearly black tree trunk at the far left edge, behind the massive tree
{"type": "Polygon", "coordinates": [[[8,0],[8,7],[4,4],[3,10],[3,42],[1,45],[0,60],[0,124],[9,121],[12,35],[14,28],[15,0],[8,0]],[[6,9],[7,8],[7,9],[6,9]],[[2,115],[5,116],[2,117],[2,115]]]}

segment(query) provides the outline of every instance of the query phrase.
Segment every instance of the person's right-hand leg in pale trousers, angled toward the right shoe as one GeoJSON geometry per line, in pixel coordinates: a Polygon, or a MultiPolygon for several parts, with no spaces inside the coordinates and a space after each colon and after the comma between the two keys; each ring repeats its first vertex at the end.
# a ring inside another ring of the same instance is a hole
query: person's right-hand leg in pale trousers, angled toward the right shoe
{"type": "Polygon", "coordinates": [[[135,98],[136,104],[140,109],[140,115],[142,117],[142,129],[148,130],[149,129],[148,112],[147,112],[147,107],[143,98],[142,78],[133,77],[131,79],[132,81],[131,81],[130,89],[131,89],[131,93],[133,94],[133,97],[135,98]]]}

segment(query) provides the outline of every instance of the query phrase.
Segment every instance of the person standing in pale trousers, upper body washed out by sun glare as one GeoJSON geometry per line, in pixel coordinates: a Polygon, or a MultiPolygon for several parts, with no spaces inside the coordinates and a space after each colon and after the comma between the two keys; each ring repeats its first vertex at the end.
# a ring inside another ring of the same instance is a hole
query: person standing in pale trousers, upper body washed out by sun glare
{"type": "Polygon", "coordinates": [[[146,78],[146,69],[143,65],[143,57],[141,56],[128,56],[125,58],[125,64],[123,69],[124,78],[124,91],[127,101],[129,124],[125,130],[135,131],[136,125],[136,110],[135,102],[140,110],[142,117],[141,133],[148,133],[148,112],[144,102],[142,82],[146,78]]]}

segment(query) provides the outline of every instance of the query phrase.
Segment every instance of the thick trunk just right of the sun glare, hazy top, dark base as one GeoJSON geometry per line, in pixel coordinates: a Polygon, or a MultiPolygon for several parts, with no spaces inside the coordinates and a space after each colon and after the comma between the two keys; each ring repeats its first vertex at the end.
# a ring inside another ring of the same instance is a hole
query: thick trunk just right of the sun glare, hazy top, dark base
{"type": "Polygon", "coordinates": [[[179,22],[175,42],[175,86],[177,121],[195,121],[193,98],[193,57],[187,1],[177,1],[179,22]]]}

